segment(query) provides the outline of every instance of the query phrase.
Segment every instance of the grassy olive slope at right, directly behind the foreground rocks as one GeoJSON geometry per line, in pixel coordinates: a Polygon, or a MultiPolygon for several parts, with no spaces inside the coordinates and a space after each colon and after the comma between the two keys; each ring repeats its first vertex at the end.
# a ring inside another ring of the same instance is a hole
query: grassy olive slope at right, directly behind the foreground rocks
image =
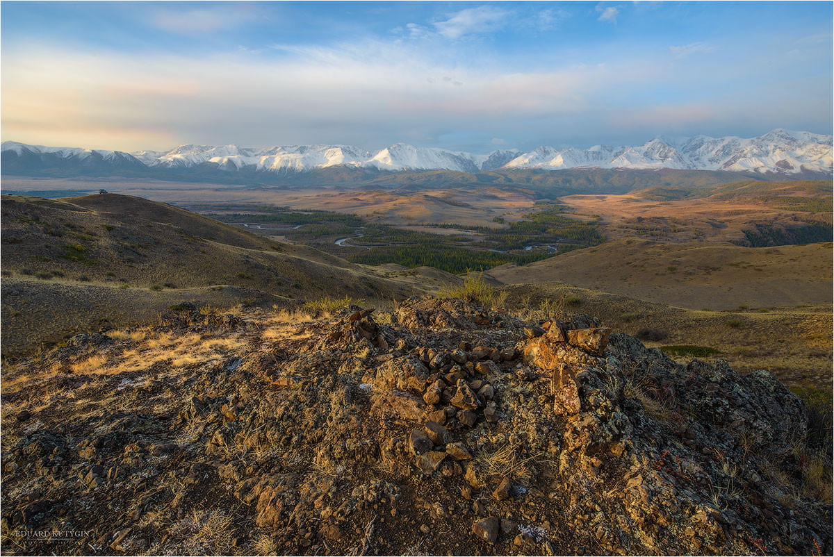
{"type": "Polygon", "coordinates": [[[646,302],[559,282],[509,284],[507,307],[530,317],[564,311],[668,350],[681,362],[724,359],[745,373],[768,369],[791,388],[821,389],[831,400],[831,304],[709,311],[646,302]],[[672,347],[669,349],[663,347],[672,347]]]}

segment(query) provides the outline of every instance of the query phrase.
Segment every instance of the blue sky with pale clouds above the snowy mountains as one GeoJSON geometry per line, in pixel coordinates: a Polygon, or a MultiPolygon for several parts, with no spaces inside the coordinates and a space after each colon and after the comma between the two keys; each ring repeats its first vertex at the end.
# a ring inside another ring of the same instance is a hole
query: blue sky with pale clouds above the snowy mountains
{"type": "Polygon", "coordinates": [[[0,135],[473,153],[832,132],[831,2],[0,3],[0,135]]]}

